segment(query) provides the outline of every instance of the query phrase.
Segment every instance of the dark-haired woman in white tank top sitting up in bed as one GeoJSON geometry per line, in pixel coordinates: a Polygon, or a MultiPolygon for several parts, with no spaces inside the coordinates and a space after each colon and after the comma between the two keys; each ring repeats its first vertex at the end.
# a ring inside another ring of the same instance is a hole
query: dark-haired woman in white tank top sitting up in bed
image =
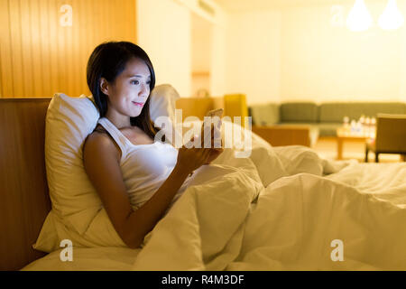
{"type": "Polygon", "coordinates": [[[184,191],[189,174],[221,150],[177,150],[154,141],[149,96],[155,75],[148,55],[134,43],[97,46],[87,78],[100,119],[84,144],[85,170],[120,238],[139,247],[184,191]]]}

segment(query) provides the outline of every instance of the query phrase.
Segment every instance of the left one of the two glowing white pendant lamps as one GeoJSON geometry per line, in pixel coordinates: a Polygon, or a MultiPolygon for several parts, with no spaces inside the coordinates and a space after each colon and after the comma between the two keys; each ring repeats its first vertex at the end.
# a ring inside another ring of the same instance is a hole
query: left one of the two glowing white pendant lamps
{"type": "Polygon", "coordinates": [[[355,0],[355,5],[346,18],[346,25],[353,32],[362,32],[371,27],[373,19],[364,4],[364,0],[355,0]]]}

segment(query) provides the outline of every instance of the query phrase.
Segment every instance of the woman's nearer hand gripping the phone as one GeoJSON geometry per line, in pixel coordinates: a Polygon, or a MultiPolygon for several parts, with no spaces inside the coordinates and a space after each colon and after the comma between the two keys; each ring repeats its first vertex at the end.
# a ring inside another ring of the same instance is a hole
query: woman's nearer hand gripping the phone
{"type": "MultiPolygon", "coordinates": [[[[190,142],[194,141],[194,137],[191,138],[190,142]]],[[[183,172],[193,172],[197,170],[201,165],[208,163],[210,148],[196,148],[186,147],[183,145],[178,152],[178,161],[176,165],[183,172]]]]}

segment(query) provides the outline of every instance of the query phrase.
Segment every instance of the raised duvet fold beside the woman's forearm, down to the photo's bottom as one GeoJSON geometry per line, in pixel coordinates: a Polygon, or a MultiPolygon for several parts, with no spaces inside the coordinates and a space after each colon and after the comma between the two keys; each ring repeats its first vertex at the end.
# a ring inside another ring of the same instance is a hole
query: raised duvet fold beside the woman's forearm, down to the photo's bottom
{"type": "Polygon", "coordinates": [[[224,270],[238,256],[245,219],[264,188],[244,170],[214,170],[216,178],[190,185],[155,226],[134,270],[224,270]]]}

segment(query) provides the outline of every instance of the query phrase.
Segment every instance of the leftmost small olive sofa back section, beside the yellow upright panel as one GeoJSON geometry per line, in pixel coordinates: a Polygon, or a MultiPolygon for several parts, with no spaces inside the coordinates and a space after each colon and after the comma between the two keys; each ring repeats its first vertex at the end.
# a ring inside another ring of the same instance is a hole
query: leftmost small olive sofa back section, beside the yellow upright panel
{"type": "Polygon", "coordinates": [[[271,126],[279,123],[279,104],[267,103],[253,105],[249,109],[250,117],[253,117],[253,125],[271,126]]]}

